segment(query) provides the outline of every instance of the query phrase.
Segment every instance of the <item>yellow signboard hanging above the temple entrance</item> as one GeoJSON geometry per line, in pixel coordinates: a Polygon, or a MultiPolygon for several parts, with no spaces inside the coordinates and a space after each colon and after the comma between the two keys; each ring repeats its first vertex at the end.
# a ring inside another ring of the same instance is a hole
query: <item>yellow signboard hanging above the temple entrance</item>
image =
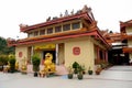
{"type": "Polygon", "coordinates": [[[34,50],[53,50],[53,48],[55,48],[55,44],[44,44],[34,46],[34,50]]]}

